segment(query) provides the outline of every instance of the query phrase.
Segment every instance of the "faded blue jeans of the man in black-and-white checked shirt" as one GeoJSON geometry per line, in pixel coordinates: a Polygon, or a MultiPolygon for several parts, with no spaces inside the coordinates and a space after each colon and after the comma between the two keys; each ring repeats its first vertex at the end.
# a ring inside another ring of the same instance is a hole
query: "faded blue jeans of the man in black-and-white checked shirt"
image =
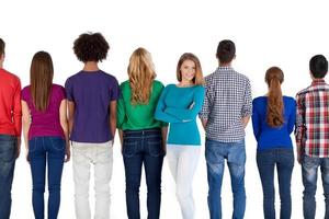
{"type": "Polygon", "coordinates": [[[234,219],[243,218],[246,210],[245,191],[245,140],[238,142],[219,142],[206,139],[205,158],[208,177],[208,208],[211,219],[222,219],[222,182],[225,159],[230,173],[231,191],[234,194],[234,219]]]}

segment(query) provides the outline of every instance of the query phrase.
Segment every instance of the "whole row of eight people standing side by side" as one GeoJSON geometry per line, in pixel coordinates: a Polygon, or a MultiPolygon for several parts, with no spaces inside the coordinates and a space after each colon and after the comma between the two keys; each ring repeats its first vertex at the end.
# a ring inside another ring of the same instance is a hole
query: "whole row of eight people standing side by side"
{"type": "Polygon", "coordinates": [[[294,166],[290,135],[295,127],[297,160],[302,164],[304,217],[315,218],[317,170],[320,166],[329,218],[329,85],[324,78],[328,61],[322,55],[309,61],[311,85],[293,97],[281,91],[283,71],[268,69],[264,96],[251,99],[249,79],[231,67],[236,48],[222,41],[219,67],[203,78],[198,58],[183,54],[177,66],[178,83],[157,80],[150,54],[137,48],[129,59],[128,80],[117,80],[99,69],[109,44],[100,33],[81,34],[73,43],[83,69],[68,78],[65,88],[53,83],[53,61],[46,51],[34,55],[30,85],[21,91],[16,76],[3,69],[4,42],[0,39],[0,218],[8,219],[15,159],[20,154],[21,127],[31,165],[33,209],[44,218],[45,173],[48,178],[48,218],[56,219],[60,204],[64,162],[70,160],[75,180],[75,207],[79,219],[90,219],[90,165],[94,168],[94,218],[110,217],[113,140],[118,129],[126,178],[129,219],[139,219],[141,166],[147,183],[148,218],[160,217],[161,170],[167,154],[184,219],[195,218],[192,182],[201,152],[196,117],[206,132],[205,158],[208,208],[222,218],[222,182],[225,160],[234,194],[232,218],[246,209],[245,128],[252,116],[258,141],[257,164],[263,187],[264,218],[274,219],[274,168],[280,186],[280,218],[291,218],[291,178],[294,166]],[[168,132],[168,124],[169,132],[168,132]]]}

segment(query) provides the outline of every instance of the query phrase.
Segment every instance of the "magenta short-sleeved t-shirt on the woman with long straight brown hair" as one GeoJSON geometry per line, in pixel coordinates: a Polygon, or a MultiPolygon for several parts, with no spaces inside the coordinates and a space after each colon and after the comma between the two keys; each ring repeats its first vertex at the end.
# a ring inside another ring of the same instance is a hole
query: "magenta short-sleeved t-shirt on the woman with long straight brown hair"
{"type": "Polygon", "coordinates": [[[59,106],[61,101],[66,99],[65,89],[61,85],[52,85],[49,104],[45,112],[35,110],[34,103],[32,101],[30,85],[25,87],[22,90],[21,99],[27,103],[31,113],[29,140],[34,137],[41,136],[65,138],[59,120],[59,106]]]}

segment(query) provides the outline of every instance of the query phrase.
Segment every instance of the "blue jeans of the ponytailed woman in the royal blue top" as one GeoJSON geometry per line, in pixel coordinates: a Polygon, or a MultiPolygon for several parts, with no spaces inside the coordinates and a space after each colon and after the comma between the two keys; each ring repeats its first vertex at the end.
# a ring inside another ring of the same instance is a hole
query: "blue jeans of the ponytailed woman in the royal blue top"
{"type": "Polygon", "coordinates": [[[292,215],[291,181],[294,168],[292,148],[274,148],[257,151],[257,165],[263,187],[263,211],[265,219],[275,219],[274,169],[276,165],[281,199],[281,219],[292,215]]]}

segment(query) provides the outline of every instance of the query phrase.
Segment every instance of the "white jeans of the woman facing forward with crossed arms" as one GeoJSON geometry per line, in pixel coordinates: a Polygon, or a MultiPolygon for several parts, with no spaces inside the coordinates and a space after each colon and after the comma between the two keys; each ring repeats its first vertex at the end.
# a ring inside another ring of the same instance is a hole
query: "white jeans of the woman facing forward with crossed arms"
{"type": "Polygon", "coordinates": [[[193,175],[200,157],[200,146],[168,145],[167,159],[175,182],[175,194],[184,219],[194,219],[193,175]]]}

